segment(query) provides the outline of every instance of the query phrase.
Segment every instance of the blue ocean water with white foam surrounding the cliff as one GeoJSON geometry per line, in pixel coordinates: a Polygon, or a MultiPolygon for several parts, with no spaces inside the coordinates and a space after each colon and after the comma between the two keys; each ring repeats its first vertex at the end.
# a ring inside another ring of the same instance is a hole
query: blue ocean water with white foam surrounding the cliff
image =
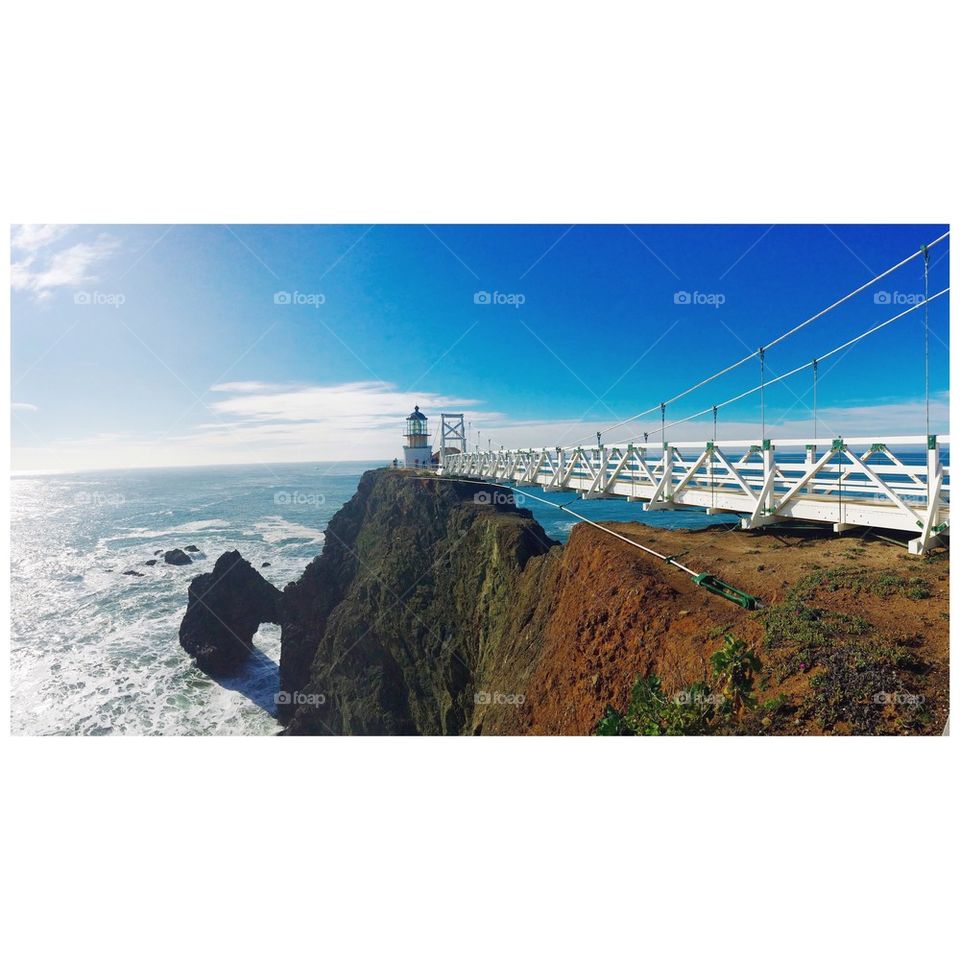
{"type": "MultiPolygon", "coordinates": [[[[377,463],[273,464],[16,476],[11,509],[11,729],[17,734],[271,734],[279,628],[263,627],[251,669],[229,685],[178,642],[187,586],[239,550],[273,584],[295,580],[324,529],[377,463]],[[196,546],[177,567],[155,551],[196,546]],[[262,567],[263,563],[270,566],[262,567]],[[125,576],[135,570],[143,576],[125,576]]],[[[520,491],[522,493],[522,491],[520,491]]],[[[537,493],[556,503],[570,494],[537,493]]],[[[573,519],[526,498],[547,533],[573,519]]],[[[644,514],[579,501],[598,521],[706,526],[724,517],[644,514]]],[[[733,520],[734,518],[729,518],[733,520]]]]}

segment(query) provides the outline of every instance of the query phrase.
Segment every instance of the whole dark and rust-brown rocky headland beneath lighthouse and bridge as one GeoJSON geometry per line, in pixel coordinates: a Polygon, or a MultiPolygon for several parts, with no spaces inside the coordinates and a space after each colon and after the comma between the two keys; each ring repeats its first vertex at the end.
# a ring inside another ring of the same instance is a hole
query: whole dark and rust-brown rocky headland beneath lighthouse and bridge
{"type": "MultiPolygon", "coordinates": [[[[668,696],[711,681],[730,634],[761,657],[757,707],[710,732],[942,729],[945,551],[920,560],[789,527],[612,526],[724,575],[764,609],[583,524],[561,547],[501,488],[366,473],[277,604],[286,731],[586,734],[607,706],[628,709],[639,677],[656,675],[668,696]]],[[[250,612],[216,599],[221,614],[250,612]]]]}

